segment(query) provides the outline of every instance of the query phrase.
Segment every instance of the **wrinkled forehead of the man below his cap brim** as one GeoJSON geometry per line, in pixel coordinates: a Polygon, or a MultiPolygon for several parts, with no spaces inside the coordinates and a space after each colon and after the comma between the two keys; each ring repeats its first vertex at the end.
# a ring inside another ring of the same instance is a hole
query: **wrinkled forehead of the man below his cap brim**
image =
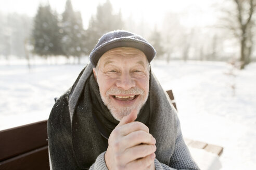
{"type": "Polygon", "coordinates": [[[140,61],[143,62],[145,65],[147,63],[146,55],[139,49],[132,47],[118,47],[105,52],[100,57],[97,66],[105,65],[109,61],[122,62],[123,60],[140,61]]]}

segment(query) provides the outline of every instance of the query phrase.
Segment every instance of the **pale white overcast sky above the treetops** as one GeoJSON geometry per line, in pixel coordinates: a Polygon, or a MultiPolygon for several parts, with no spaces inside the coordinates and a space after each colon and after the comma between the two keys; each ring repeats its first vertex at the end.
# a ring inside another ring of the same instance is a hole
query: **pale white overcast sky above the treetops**
{"type": "MultiPolygon", "coordinates": [[[[113,11],[115,13],[121,10],[123,18],[132,17],[139,22],[144,20],[151,25],[161,24],[166,12],[181,13],[184,18],[184,24],[187,26],[209,25],[216,21],[214,15],[214,5],[221,0],[110,0],[113,11]],[[189,14],[189,15],[188,15],[189,14]]],[[[39,4],[46,4],[58,13],[62,13],[65,9],[66,0],[0,0],[0,12],[10,13],[17,12],[34,17],[39,4]]],[[[84,27],[86,29],[89,19],[96,13],[98,4],[105,3],[106,0],[72,0],[75,11],[80,11],[83,18],[84,27]]]]}

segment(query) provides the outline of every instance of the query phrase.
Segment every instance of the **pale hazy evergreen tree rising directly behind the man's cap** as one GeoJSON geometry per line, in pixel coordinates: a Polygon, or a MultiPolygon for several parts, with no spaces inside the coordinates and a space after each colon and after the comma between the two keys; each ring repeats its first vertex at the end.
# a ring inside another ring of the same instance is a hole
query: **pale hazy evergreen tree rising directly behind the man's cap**
{"type": "Polygon", "coordinates": [[[112,5],[109,0],[103,5],[98,5],[96,15],[92,16],[86,30],[87,54],[93,50],[98,39],[103,34],[113,30],[121,30],[123,26],[121,11],[117,15],[113,14],[112,5]]]}

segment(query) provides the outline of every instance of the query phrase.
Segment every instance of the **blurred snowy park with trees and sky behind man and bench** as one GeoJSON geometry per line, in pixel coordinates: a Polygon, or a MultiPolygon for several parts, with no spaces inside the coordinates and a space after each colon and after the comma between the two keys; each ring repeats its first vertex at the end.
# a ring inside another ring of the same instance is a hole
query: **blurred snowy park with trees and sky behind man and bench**
{"type": "Polygon", "coordinates": [[[224,147],[222,169],[256,166],[256,1],[0,0],[0,130],[45,120],[101,35],[157,51],[183,135],[224,147]]]}

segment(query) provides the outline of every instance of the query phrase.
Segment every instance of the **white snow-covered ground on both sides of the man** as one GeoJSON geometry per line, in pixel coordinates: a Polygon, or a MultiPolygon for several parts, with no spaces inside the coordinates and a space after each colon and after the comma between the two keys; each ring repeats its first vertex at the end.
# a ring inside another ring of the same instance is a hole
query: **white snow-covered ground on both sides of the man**
{"type": "MultiPolygon", "coordinates": [[[[27,65],[0,60],[0,130],[45,120],[84,65],[27,65]]],[[[256,63],[228,73],[224,62],[153,61],[163,89],[174,92],[186,138],[224,147],[222,169],[256,167],[256,63]],[[235,85],[235,91],[231,86],[235,85]]]]}

